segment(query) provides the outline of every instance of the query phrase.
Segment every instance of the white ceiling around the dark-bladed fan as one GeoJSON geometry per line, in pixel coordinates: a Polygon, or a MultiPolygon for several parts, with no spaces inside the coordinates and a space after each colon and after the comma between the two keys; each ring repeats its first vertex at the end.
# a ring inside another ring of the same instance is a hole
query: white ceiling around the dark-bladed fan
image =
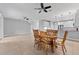
{"type": "Polygon", "coordinates": [[[45,3],[45,6],[51,5],[52,8],[49,9],[48,13],[42,12],[38,13],[38,10],[34,8],[39,8],[40,3],[0,3],[0,12],[3,16],[22,19],[23,17],[28,17],[32,20],[47,19],[53,20],[55,17],[63,17],[75,13],[79,9],[79,3],[45,3]]]}

